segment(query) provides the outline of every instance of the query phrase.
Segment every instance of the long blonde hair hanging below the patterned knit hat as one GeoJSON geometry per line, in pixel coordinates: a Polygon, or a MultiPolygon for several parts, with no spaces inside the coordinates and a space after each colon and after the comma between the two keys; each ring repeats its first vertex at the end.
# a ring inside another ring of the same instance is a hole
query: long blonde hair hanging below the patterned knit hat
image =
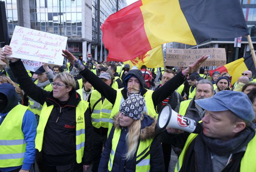
{"type": "MultiPolygon", "coordinates": [[[[119,112],[118,112],[119,114],[119,112]]],[[[127,152],[124,155],[125,160],[131,160],[134,157],[134,154],[137,150],[139,136],[140,136],[140,128],[141,128],[141,121],[144,119],[142,115],[140,120],[134,120],[133,123],[129,127],[129,131],[126,135],[126,143],[127,143],[127,152]]],[[[115,126],[119,126],[119,116],[117,120],[114,122],[115,126]]],[[[117,128],[118,129],[118,128],[117,128]]]]}

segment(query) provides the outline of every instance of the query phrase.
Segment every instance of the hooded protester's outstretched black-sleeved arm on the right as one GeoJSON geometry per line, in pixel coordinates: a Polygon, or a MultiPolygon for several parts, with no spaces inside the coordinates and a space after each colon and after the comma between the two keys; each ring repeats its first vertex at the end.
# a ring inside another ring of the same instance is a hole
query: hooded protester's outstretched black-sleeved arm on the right
{"type": "Polygon", "coordinates": [[[186,68],[182,72],[179,72],[175,77],[173,77],[159,89],[154,91],[152,94],[154,106],[163,101],[165,98],[167,98],[167,96],[171,95],[179,86],[181,86],[182,83],[184,83],[184,81],[186,80],[186,76],[194,71],[197,71],[197,68],[199,68],[200,65],[204,61],[206,61],[207,58],[208,56],[204,55],[201,58],[197,59],[197,61],[189,65],[188,68],[186,68]]]}

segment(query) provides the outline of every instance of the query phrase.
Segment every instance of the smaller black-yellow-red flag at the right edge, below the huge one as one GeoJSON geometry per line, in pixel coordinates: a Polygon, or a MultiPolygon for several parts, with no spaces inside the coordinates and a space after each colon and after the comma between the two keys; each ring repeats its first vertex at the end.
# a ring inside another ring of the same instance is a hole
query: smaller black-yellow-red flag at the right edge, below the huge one
{"type": "MultiPolygon", "coordinates": [[[[242,76],[244,71],[252,71],[253,77],[256,77],[256,69],[253,62],[253,56],[247,55],[246,57],[239,58],[238,60],[232,61],[231,63],[225,64],[214,71],[228,72],[232,76],[231,84],[233,85],[239,77],[242,76]]],[[[212,76],[214,71],[209,71],[212,76]]]]}

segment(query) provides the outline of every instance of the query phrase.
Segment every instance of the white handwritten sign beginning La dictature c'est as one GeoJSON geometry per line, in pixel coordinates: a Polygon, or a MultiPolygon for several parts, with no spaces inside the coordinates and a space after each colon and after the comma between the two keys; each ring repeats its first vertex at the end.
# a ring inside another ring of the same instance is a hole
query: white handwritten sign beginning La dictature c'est
{"type": "Polygon", "coordinates": [[[67,37],[16,26],[10,46],[14,58],[62,65],[67,37]]]}

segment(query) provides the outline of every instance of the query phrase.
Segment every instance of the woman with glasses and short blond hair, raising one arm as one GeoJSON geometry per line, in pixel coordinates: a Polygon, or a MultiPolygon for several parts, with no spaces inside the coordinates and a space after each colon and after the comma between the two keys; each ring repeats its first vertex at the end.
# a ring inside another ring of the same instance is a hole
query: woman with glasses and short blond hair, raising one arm
{"type": "MultiPolygon", "coordinates": [[[[6,46],[0,59],[11,55],[6,46]]],[[[91,164],[93,126],[88,102],[75,91],[71,74],[61,73],[53,78],[52,92],[35,85],[20,59],[9,58],[10,68],[24,92],[42,107],[36,149],[42,151],[46,172],[83,172],[91,164]]]]}

